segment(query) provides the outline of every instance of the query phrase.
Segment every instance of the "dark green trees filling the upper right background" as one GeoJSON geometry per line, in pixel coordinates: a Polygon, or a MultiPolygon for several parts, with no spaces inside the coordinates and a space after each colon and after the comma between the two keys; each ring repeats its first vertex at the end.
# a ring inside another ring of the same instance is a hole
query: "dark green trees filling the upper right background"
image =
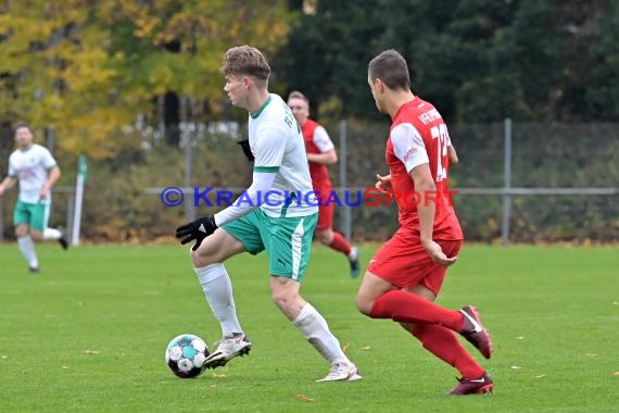
{"type": "MultiPolygon", "coordinates": [[[[337,116],[375,117],[367,62],[408,61],[450,122],[617,118],[619,7],[608,0],[316,1],[277,58],[279,78],[337,116]],[[311,70],[307,70],[311,67],[311,70]]],[[[296,4],[299,7],[299,4],[296,4]]]]}

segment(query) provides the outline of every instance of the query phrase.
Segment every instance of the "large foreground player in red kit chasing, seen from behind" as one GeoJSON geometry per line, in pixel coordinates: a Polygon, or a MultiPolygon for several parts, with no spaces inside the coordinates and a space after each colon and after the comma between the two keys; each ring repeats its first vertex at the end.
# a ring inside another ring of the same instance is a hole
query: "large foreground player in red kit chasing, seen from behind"
{"type": "Polygon", "coordinates": [[[421,202],[396,199],[400,228],[370,261],[357,308],[372,318],[400,322],[428,351],[456,367],[462,378],[450,395],[491,391],[492,378],[454,334],[490,359],[490,336],[477,310],[468,305],[452,311],[433,303],[463,245],[446,192],[447,127],[432,104],[413,95],[406,61],[395,50],[370,61],[368,83],[378,110],[393,122],[386,155],[390,178],[377,186],[401,195],[417,191],[421,202]]]}

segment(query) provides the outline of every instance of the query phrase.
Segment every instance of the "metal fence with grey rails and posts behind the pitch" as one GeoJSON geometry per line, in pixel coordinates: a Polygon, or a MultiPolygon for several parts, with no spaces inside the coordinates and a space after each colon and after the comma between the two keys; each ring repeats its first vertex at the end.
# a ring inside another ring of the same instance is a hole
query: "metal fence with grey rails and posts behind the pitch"
{"type": "MultiPolygon", "coordinates": [[[[331,167],[330,173],[334,189],[340,193],[371,187],[377,173],[388,173],[384,163],[387,120],[383,123],[342,121],[325,126],[339,153],[339,165],[331,167]]],[[[241,159],[230,134],[209,133],[216,129],[220,128],[186,128],[184,150],[164,151],[169,152],[165,154],[168,158],[144,165],[149,168],[149,173],[143,174],[144,179],[132,179],[128,175],[122,182],[122,189],[114,188],[117,184],[113,180],[97,183],[97,173],[93,173],[86,187],[86,237],[97,238],[96,234],[88,233],[89,228],[121,225],[110,220],[112,214],[125,218],[122,225],[144,237],[170,234],[175,220],[213,212],[203,206],[192,208],[190,198],[194,186],[240,191],[243,185],[249,185],[251,165],[241,159]],[[199,134],[192,135],[192,130],[199,134]],[[173,163],[176,167],[164,168],[173,163]],[[153,168],[155,172],[151,173],[153,168]],[[175,209],[172,217],[168,216],[170,209],[163,208],[156,197],[165,186],[184,187],[188,197],[185,208],[175,209]],[[118,193],[129,191],[132,197],[143,198],[125,202],[118,193]],[[102,200],[106,202],[104,205],[102,200]],[[104,208],[105,213],[94,213],[98,208],[104,208]],[[137,217],[131,221],[131,216],[137,217]]],[[[242,127],[237,125],[235,130],[232,137],[238,139],[243,134],[242,127]]],[[[505,120],[494,124],[452,125],[450,136],[460,160],[450,170],[450,186],[458,191],[454,204],[467,239],[504,243],[619,241],[619,124],[539,124],[505,120]]],[[[60,196],[54,196],[52,222],[66,220],[68,229],[73,214],[72,191],[71,187],[54,188],[60,196]]],[[[0,198],[0,237],[10,236],[11,226],[7,224],[11,202],[11,196],[5,200],[0,198]]],[[[343,205],[337,208],[336,226],[351,239],[384,240],[397,227],[397,213],[393,205],[343,205]]]]}

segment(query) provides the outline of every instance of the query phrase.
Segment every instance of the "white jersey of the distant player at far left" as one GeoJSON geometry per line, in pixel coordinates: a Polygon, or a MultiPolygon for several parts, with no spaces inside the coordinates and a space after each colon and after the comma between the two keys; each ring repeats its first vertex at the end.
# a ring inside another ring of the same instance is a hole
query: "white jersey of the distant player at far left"
{"type": "Polygon", "coordinates": [[[55,165],[50,151],[37,143],[11,153],[9,176],[20,182],[20,201],[38,203],[40,191],[48,180],[48,172],[55,165]]]}

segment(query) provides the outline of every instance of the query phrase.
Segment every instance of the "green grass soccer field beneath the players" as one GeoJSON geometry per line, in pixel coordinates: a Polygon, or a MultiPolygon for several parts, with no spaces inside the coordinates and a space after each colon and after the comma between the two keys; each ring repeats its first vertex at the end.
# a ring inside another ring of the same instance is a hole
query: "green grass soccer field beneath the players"
{"type": "MultiPolygon", "coordinates": [[[[363,249],[367,262],[375,246],[363,249]]],[[[30,275],[0,246],[0,411],[617,412],[619,249],[465,247],[439,302],[478,304],[495,354],[492,396],[445,397],[456,372],[394,323],[358,314],[359,280],[316,246],[302,288],[364,379],[314,383],[328,365],[270,302],[264,256],[227,265],[250,356],[173,376],[168,340],[212,343],[218,323],[186,248],[39,247],[30,275]]],[[[467,343],[468,346],[468,343],[467,343]]],[[[475,353],[477,358],[477,353],[475,353]]]]}

